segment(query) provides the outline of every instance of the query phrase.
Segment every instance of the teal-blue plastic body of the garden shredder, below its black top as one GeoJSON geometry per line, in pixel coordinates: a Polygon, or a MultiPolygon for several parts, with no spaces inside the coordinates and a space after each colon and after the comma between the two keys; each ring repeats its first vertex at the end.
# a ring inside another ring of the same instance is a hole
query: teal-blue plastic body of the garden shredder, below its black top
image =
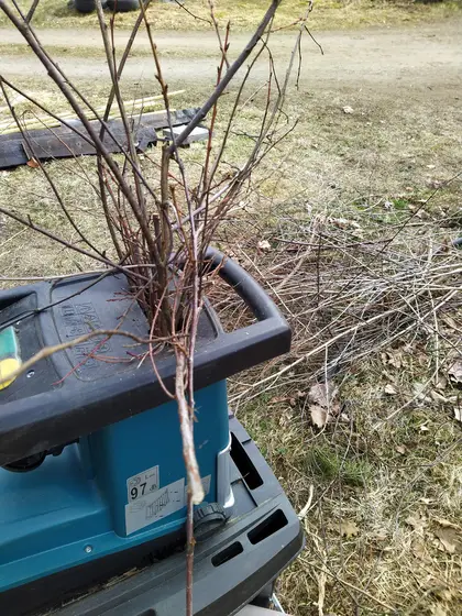
{"type": "MultiPolygon", "coordinates": [[[[226,382],[197,392],[196,406],[197,457],[201,476],[210,476],[206,499],[213,502],[217,454],[229,440],[226,382]]],[[[158,495],[170,484],[183,485],[185,466],[174,402],[84,438],[59,457],[47,457],[34,471],[0,469],[0,592],[180,528],[186,516],[184,492],[175,505],[172,498],[166,503],[168,495],[157,502],[153,490],[135,503],[143,509],[144,497],[144,510],[155,514],[127,535],[128,480],[156,466],[158,486],[150,485],[158,487],[158,495]],[[176,510],[168,514],[167,506],[176,510]]]]}

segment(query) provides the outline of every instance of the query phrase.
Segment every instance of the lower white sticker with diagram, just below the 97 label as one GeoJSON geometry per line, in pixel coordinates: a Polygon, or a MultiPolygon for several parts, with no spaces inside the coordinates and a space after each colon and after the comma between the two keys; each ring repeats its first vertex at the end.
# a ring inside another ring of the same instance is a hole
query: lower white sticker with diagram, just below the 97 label
{"type": "Polygon", "coordinates": [[[125,505],[127,535],[185,507],[185,477],[125,505]]]}

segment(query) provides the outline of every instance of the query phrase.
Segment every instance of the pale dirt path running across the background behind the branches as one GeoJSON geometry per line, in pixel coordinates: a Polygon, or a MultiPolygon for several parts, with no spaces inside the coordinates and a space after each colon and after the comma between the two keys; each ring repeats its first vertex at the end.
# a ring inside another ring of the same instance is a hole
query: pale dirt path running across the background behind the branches
{"type": "MultiPolygon", "coordinates": [[[[424,94],[432,97],[457,97],[462,91],[462,22],[457,20],[413,29],[366,30],[361,32],[319,32],[317,40],[324,55],[307,36],[304,41],[304,66],[301,84],[308,89],[365,88],[407,90],[409,95],[424,94]]],[[[86,30],[41,30],[43,43],[56,47],[59,65],[69,77],[78,79],[105,79],[107,68],[101,57],[91,57],[91,51],[100,45],[98,33],[86,30]],[[69,50],[66,54],[65,50],[69,50]],[[79,57],[79,50],[81,57],[79,57]],[[90,56],[90,57],[88,57],[90,56]]],[[[127,41],[128,33],[119,33],[118,42],[127,41]]],[[[231,50],[238,53],[248,35],[237,34],[231,50]]],[[[290,54],[293,35],[276,35],[272,47],[279,57],[280,67],[290,54]]],[[[164,32],[157,36],[164,54],[164,70],[172,87],[183,84],[210,84],[215,79],[217,42],[209,33],[164,32]],[[175,55],[182,54],[182,57],[175,55]]],[[[11,30],[0,29],[1,72],[7,77],[33,77],[45,72],[30,55],[8,55],[9,44],[21,44],[21,36],[11,30]]],[[[141,35],[136,43],[140,54],[147,53],[147,38],[141,35]]],[[[132,58],[125,69],[125,78],[133,80],[152,78],[150,58],[132,58]]],[[[267,64],[260,63],[254,79],[267,75],[267,64]]]]}

